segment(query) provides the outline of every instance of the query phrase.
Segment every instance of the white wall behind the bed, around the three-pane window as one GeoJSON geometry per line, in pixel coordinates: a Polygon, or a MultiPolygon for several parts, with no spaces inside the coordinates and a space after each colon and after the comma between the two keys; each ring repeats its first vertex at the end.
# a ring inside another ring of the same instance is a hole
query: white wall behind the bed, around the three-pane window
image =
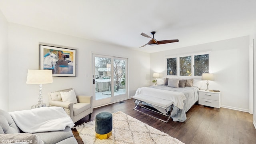
{"type": "Polygon", "coordinates": [[[168,56],[208,51],[215,77],[209,86],[221,91],[221,106],[249,112],[249,36],[151,53],[150,75],[160,72],[166,76],[168,56]]]}

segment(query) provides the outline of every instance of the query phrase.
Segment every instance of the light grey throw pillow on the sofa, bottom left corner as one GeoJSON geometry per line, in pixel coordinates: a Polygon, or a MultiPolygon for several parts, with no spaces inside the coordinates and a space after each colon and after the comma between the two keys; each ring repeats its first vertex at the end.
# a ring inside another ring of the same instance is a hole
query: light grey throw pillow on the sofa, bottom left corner
{"type": "Polygon", "coordinates": [[[30,133],[0,134],[0,143],[9,144],[44,144],[39,136],[30,133]]]}

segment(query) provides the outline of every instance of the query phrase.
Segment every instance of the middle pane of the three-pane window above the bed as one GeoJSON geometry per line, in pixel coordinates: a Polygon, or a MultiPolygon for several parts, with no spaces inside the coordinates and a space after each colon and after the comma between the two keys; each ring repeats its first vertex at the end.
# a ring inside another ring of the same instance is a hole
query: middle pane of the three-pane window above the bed
{"type": "Polygon", "coordinates": [[[180,57],[180,76],[191,76],[191,56],[180,57]]]}

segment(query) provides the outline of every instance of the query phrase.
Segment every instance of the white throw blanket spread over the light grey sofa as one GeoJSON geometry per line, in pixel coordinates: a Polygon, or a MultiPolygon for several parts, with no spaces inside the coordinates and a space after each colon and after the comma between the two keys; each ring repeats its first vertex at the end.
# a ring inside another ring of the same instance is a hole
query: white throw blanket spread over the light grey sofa
{"type": "Polygon", "coordinates": [[[26,133],[64,130],[75,124],[61,107],[41,107],[9,112],[16,125],[26,133]]]}

